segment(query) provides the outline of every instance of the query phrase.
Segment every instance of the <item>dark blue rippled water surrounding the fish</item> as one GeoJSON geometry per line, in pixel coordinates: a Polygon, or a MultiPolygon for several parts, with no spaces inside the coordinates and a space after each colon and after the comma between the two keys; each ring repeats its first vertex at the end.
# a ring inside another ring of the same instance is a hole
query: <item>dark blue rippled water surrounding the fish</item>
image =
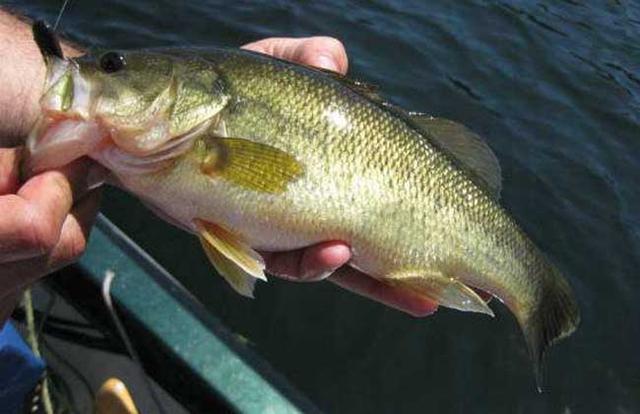
{"type": "MultiPolygon", "coordinates": [[[[631,1],[76,1],[85,45],[342,39],[351,74],[460,121],[502,163],[504,204],[569,275],[583,322],[535,392],[515,320],[413,319],[329,283],[257,299],[212,276],[197,241],[112,190],[104,211],[331,412],[640,412],[640,5],[631,1]]],[[[59,2],[17,5],[53,20],[59,2]]],[[[176,200],[178,202],[178,200],[176,200]]]]}

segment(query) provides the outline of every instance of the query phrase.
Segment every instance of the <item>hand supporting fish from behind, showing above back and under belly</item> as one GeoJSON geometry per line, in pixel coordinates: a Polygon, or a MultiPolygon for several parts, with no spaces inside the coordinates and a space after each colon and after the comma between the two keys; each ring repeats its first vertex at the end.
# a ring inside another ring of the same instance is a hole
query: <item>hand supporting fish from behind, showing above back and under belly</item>
{"type": "MultiPolygon", "coordinates": [[[[330,37],[269,38],[250,43],[243,48],[342,74],[345,74],[348,68],[344,46],[339,40],[330,37]]],[[[351,249],[340,241],[320,243],[292,252],[262,255],[269,273],[284,279],[327,279],[352,292],[414,316],[429,315],[438,307],[436,303],[423,296],[384,284],[346,266],[351,259],[351,249]]]]}

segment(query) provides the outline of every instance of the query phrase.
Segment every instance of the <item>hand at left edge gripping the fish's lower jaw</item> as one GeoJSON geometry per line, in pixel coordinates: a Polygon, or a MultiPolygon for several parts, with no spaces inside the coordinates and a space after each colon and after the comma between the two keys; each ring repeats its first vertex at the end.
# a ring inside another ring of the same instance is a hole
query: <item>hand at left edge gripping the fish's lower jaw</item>
{"type": "Polygon", "coordinates": [[[0,148],[0,326],[22,290],[77,260],[106,172],[87,159],[19,183],[20,148],[0,148]]]}

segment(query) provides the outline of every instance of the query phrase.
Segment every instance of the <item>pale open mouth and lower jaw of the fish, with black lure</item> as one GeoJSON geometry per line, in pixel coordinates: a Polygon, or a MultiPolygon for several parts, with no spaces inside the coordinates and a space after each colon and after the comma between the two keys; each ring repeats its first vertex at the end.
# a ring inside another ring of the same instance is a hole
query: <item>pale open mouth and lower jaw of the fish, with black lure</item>
{"type": "MultiPolygon", "coordinates": [[[[40,99],[40,116],[25,144],[21,166],[24,179],[83,156],[116,171],[144,173],[157,170],[186,152],[193,138],[211,124],[211,120],[206,120],[175,137],[169,136],[168,127],[164,127],[163,139],[157,146],[137,148],[132,143],[136,137],[150,133],[149,129],[127,131],[125,126],[119,127],[98,116],[99,97],[92,96],[95,91],[82,76],[78,63],[63,56],[55,33],[46,24],[36,22],[33,35],[46,63],[47,74],[40,99]]],[[[156,126],[167,125],[162,119],[156,121],[156,126]]]]}

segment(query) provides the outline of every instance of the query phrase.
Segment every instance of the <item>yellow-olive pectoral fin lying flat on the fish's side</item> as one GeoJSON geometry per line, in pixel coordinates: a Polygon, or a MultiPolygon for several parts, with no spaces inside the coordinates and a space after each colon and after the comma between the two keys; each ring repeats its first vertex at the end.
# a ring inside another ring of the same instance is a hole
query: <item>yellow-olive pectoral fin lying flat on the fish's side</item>
{"type": "Polygon", "coordinates": [[[278,194],[303,173],[291,155],[270,145],[242,138],[206,141],[200,170],[250,190],[278,194]]]}

